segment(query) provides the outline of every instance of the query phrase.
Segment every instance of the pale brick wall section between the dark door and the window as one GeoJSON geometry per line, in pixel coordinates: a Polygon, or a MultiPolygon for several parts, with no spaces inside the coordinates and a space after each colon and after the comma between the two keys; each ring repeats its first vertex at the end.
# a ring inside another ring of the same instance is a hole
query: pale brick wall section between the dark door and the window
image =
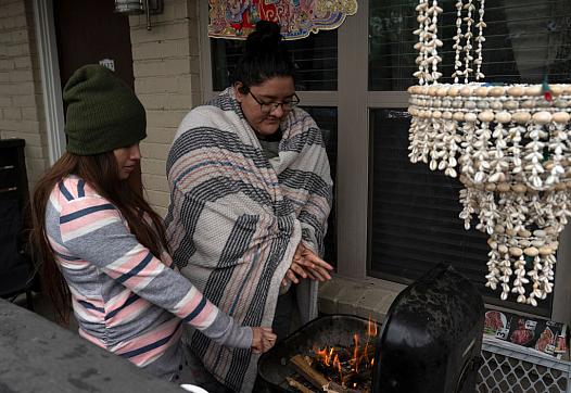
{"type": "Polygon", "coordinates": [[[165,1],[161,15],[129,17],[135,91],[147,110],[141,172],[149,202],[161,215],[168,206],[166,157],[182,117],[201,102],[198,0],[165,1]]]}

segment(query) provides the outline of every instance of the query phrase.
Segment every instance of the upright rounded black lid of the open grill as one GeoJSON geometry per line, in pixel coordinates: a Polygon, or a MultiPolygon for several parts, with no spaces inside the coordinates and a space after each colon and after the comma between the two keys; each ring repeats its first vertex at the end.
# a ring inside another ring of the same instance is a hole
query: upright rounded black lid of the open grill
{"type": "Polygon", "coordinates": [[[373,392],[473,392],[484,303],[454,268],[439,265],[395,299],[379,334],[373,392]]]}

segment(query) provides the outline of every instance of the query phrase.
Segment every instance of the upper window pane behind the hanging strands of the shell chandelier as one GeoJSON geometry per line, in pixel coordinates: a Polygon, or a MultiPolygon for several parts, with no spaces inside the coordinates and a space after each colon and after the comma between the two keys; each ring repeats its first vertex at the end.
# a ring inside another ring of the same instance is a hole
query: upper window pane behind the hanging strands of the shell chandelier
{"type": "MultiPolygon", "coordinates": [[[[452,83],[456,1],[439,4],[439,37],[444,46],[441,81],[452,83]]],[[[482,72],[488,83],[568,83],[571,71],[571,11],[567,1],[498,0],[486,2],[482,72]]],[[[415,85],[418,1],[370,1],[369,90],[404,91],[415,85]]],[[[474,1],[479,7],[479,2],[474,1]]]]}

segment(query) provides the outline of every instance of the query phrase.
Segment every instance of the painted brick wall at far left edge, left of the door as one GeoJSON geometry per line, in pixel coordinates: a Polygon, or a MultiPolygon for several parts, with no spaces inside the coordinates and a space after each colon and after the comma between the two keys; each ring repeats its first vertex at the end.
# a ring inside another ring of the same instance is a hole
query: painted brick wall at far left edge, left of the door
{"type": "Polygon", "coordinates": [[[26,140],[30,190],[48,166],[31,0],[0,1],[0,138],[26,140]]]}

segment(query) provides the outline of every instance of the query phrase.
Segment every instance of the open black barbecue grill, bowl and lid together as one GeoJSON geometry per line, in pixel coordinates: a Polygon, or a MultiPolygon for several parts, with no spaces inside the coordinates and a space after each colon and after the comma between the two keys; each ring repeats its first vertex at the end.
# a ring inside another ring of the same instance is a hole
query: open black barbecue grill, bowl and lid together
{"type": "MultiPolygon", "coordinates": [[[[376,339],[371,391],[474,392],[483,324],[484,304],[475,288],[454,268],[436,266],[391,305],[376,339]]],[[[270,392],[299,392],[287,380],[299,377],[293,356],[316,346],[348,347],[354,333],[368,326],[369,320],[352,315],[312,320],[262,355],[258,376],[270,392]]]]}

